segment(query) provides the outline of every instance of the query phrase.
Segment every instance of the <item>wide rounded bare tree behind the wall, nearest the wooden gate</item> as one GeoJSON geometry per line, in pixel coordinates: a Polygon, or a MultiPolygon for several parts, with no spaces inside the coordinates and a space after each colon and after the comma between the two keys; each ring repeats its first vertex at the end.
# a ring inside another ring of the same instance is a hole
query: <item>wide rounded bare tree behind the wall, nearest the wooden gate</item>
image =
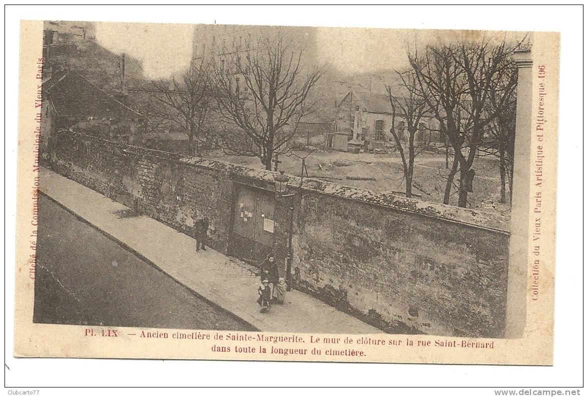
{"type": "Polygon", "coordinates": [[[256,152],[247,144],[245,153],[258,156],[268,170],[275,154],[288,151],[300,119],[316,111],[316,102],[307,102],[323,71],[318,66],[305,71],[303,51],[294,51],[278,33],[260,38],[254,48],[237,47],[215,62],[220,114],[249,137],[256,152]]]}

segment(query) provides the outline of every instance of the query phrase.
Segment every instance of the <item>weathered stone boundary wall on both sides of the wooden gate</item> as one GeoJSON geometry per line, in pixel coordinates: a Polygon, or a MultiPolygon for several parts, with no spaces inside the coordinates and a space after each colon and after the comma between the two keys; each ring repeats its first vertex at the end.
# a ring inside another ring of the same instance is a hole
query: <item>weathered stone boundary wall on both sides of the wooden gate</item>
{"type": "MultiPolygon", "coordinates": [[[[208,216],[210,245],[223,253],[236,186],[272,191],[276,175],[70,131],[51,138],[54,171],[188,235],[208,216]]],[[[503,336],[508,218],[290,179],[299,289],[387,332],[503,336]]]]}

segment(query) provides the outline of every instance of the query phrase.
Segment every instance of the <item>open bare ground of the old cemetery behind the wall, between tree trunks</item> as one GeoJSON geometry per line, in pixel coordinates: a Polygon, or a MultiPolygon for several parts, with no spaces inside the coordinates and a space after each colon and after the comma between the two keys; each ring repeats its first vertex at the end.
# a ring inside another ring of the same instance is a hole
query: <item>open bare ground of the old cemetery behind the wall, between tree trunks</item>
{"type": "MultiPolygon", "coordinates": [[[[282,155],[279,160],[280,171],[289,175],[300,175],[302,168],[301,157],[306,157],[305,163],[308,176],[340,185],[355,186],[377,192],[397,192],[402,195],[405,191],[405,179],[402,171],[402,161],[398,153],[392,154],[352,154],[338,151],[296,152],[296,155],[282,155]],[[307,156],[308,155],[308,156],[307,156]],[[320,166],[319,166],[320,165],[320,166]],[[347,179],[347,177],[370,177],[373,180],[347,179]]],[[[233,164],[261,168],[259,158],[252,156],[230,156],[211,154],[211,157],[233,164]]],[[[452,158],[449,159],[451,166],[452,158]]],[[[500,174],[499,162],[489,156],[477,158],[473,168],[476,177],[473,182],[473,193],[468,195],[468,208],[510,216],[510,206],[499,202],[500,174]]],[[[415,174],[413,194],[416,198],[443,202],[445,184],[449,170],[445,168],[445,155],[425,153],[415,159],[415,174]]],[[[457,184],[459,174],[456,175],[450,199],[451,205],[457,205],[457,184]]]]}

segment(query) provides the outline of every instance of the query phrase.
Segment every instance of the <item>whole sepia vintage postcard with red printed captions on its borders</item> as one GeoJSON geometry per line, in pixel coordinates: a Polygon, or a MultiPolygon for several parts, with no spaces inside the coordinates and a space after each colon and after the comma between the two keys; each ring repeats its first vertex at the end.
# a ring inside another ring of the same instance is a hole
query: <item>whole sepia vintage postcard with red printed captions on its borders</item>
{"type": "Polygon", "coordinates": [[[15,356],[552,365],[558,33],[20,34],[15,356]]]}

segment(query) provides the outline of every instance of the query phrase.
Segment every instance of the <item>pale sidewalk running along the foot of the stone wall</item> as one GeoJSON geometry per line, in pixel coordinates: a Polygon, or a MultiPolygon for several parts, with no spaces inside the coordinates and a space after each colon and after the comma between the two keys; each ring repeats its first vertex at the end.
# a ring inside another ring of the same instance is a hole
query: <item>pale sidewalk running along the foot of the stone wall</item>
{"type": "Polygon", "coordinates": [[[119,218],[117,212],[128,207],[49,169],[41,168],[39,176],[45,195],[260,331],[382,333],[299,291],[288,292],[284,305],[260,313],[259,278],[244,263],[212,248],[195,252],[194,239],[148,216],[119,218]]]}

